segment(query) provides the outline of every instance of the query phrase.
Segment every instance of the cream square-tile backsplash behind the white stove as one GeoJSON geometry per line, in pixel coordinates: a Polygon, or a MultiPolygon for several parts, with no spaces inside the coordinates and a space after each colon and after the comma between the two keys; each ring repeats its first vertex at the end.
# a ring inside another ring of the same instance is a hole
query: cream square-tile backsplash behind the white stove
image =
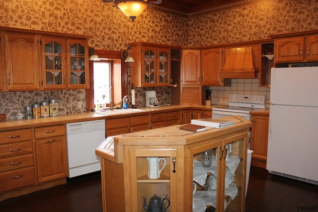
{"type": "Polygon", "coordinates": [[[231,86],[212,86],[212,104],[229,105],[230,94],[266,96],[269,108],[270,87],[259,87],[259,79],[232,79],[231,86]]]}

